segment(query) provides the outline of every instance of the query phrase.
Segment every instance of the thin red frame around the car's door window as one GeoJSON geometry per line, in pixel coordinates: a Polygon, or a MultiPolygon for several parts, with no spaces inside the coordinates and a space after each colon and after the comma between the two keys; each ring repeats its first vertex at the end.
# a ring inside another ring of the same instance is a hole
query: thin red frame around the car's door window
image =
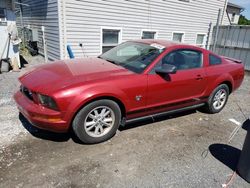
{"type": "Polygon", "coordinates": [[[173,49],[169,52],[167,52],[165,55],[162,56],[162,58],[154,65],[154,67],[151,68],[151,70],[149,71],[149,74],[156,74],[155,73],[155,69],[157,67],[157,65],[160,63],[160,61],[165,58],[167,55],[169,55],[170,53],[173,53],[173,52],[176,52],[176,51],[180,51],[180,50],[189,50],[189,51],[196,51],[196,52],[199,52],[201,53],[201,59],[202,59],[202,62],[201,62],[201,66],[200,67],[197,67],[197,68],[191,68],[191,69],[181,69],[181,70],[177,70],[177,72],[180,72],[180,71],[190,71],[190,70],[195,70],[195,69],[202,69],[204,68],[204,52],[200,49],[192,49],[192,48],[179,48],[179,49],[173,49]]]}

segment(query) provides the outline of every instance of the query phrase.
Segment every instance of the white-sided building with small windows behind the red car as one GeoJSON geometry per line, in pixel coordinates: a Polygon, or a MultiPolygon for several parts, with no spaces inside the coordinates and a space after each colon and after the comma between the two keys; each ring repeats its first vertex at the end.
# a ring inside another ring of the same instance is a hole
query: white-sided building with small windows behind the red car
{"type": "MultiPolygon", "coordinates": [[[[45,27],[48,57],[97,56],[117,44],[138,38],[175,40],[205,47],[209,24],[215,26],[221,9],[229,24],[227,0],[19,0],[24,26],[45,27]],[[80,47],[83,45],[83,49],[80,47]]],[[[210,36],[211,40],[211,36],[210,36]]]]}

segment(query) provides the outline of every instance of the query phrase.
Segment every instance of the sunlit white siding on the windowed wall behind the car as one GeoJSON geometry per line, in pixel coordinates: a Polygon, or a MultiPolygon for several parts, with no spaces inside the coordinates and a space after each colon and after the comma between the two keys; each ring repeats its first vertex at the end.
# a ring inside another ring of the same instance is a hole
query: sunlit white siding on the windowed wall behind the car
{"type": "MultiPolygon", "coordinates": [[[[216,24],[218,9],[225,0],[65,0],[64,47],[71,45],[75,56],[97,56],[101,52],[101,27],[122,28],[122,41],[138,39],[143,29],[157,31],[158,39],[172,39],[184,32],[185,43],[195,44],[197,33],[207,33],[216,24]]],[[[63,3],[61,3],[63,4],[63,3]]],[[[65,54],[64,50],[64,56],[65,54]]]]}

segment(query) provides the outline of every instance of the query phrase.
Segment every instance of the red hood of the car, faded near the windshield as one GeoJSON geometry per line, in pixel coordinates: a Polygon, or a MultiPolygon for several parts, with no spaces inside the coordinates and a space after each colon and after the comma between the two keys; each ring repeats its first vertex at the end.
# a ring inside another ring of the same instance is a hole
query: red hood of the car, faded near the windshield
{"type": "Polygon", "coordinates": [[[49,94],[55,90],[86,82],[104,81],[133,72],[99,58],[56,61],[34,68],[19,78],[33,91],[49,94]]]}

